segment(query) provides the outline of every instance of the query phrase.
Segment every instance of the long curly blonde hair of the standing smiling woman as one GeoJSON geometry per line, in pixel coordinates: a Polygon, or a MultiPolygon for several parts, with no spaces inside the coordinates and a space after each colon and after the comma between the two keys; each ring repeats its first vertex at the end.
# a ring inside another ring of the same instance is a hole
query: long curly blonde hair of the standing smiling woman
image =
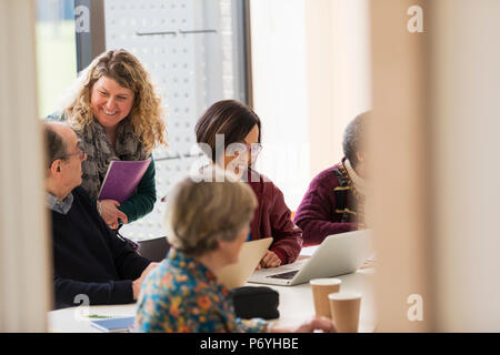
{"type": "Polygon", "coordinates": [[[134,93],[129,118],[144,150],[150,153],[157,145],[167,146],[161,99],[141,62],[123,49],[109,50],[96,58],[66,93],[61,110],[73,130],[80,132],[94,120],[90,95],[101,77],[112,79],[134,93]]]}

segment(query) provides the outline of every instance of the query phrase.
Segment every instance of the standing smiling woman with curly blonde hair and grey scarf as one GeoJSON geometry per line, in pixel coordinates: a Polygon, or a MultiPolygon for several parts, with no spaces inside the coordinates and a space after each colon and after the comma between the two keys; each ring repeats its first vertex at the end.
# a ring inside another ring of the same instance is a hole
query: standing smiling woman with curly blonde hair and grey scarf
{"type": "Polygon", "coordinates": [[[110,161],[144,160],[156,146],[167,145],[161,100],[140,61],[122,49],[100,54],[64,102],[57,119],[68,120],[81,141],[87,153],[82,186],[106,223],[118,229],[151,212],[157,199],[152,160],[129,200],[97,200],[110,161]]]}

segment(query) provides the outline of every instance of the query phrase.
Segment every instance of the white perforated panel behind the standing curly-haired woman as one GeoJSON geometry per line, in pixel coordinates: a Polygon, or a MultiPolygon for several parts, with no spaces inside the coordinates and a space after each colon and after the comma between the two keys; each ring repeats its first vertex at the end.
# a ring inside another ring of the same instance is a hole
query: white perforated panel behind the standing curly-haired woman
{"type": "MultiPolygon", "coordinates": [[[[106,0],[106,47],[131,51],[151,74],[166,109],[169,146],[153,152],[158,201],[152,213],[124,225],[132,240],[164,235],[171,184],[194,156],[194,125],[213,102],[234,98],[234,0],[106,0]]],[[[234,98],[239,99],[239,98],[234,98]]]]}

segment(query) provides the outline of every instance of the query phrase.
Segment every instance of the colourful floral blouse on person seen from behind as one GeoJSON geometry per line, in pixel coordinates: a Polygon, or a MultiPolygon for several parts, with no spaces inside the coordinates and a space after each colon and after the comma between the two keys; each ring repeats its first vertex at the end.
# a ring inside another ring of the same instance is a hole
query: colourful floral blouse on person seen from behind
{"type": "Polygon", "coordinates": [[[257,333],[260,318],[236,316],[228,288],[203,264],[171,248],[146,277],[136,315],[138,332],[257,333]]]}

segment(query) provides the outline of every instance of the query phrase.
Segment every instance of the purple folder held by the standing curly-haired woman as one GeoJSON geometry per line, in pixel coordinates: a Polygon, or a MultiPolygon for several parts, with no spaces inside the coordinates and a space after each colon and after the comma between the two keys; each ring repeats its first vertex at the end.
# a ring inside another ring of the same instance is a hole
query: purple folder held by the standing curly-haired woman
{"type": "Polygon", "coordinates": [[[120,203],[129,200],[150,163],[151,158],[139,161],[111,161],[98,200],[116,200],[120,203]]]}

